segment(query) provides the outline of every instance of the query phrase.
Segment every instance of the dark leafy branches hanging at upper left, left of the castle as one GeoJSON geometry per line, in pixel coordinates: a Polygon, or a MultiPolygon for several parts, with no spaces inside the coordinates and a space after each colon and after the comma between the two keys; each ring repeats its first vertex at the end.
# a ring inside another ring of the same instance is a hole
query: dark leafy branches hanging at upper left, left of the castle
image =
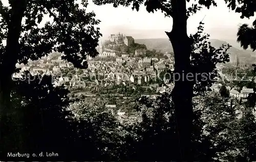
{"type": "MultiPolygon", "coordinates": [[[[12,2],[12,1],[11,1],[12,2]]],[[[42,56],[46,56],[52,52],[64,52],[66,59],[76,67],[87,67],[87,55],[95,57],[98,55],[96,47],[98,38],[101,36],[98,28],[94,28],[99,24],[99,20],[94,18],[95,13],[86,12],[88,6],[87,1],[23,1],[25,3],[24,18],[25,22],[20,24],[22,34],[18,37],[20,51],[14,60],[16,63],[27,63],[28,59],[37,60],[42,56]],[[79,7],[79,5],[82,6],[79,7]],[[39,24],[44,16],[49,14],[53,18],[53,22],[47,21],[45,26],[40,27],[39,24]],[[78,56],[77,54],[80,54],[78,56]]],[[[15,1],[13,2],[15,3],[15,1]]],[[[20,6],[9,7],[0,4],[1,16],[1,50],[5,51],[2,40],[7,38],[8,25],[12,23],[11,12],[19,11],[20,6]]],[[[23,14],[23,13],[20,13],[23,14]]],[[[3,59],[3,58],[2,58],[3,59]]]]}

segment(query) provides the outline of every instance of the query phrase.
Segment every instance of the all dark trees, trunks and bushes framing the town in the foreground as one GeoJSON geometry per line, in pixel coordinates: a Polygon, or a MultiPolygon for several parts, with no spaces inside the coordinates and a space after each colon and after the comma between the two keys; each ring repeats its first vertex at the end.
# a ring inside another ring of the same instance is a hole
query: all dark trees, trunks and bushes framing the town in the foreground
{"type": "MultiPolygon", "coordinates": [[[[115,7],[133,3],[138,10],[144,1],[94,2],[99,5],[114,3],[115,7]]],[[[212,47],[207,42],[209,36],[200,34],[201,25],[198,33],[187,37],[186,14],[193,14],[201,7],[195,5],[186,10],[185,0],[168,2],[145,1],[145,6],[149,12],[161,9],[166,16],[173,16],[173,32],[166,34],[174,47],[175,71],[203,72],[211,79],[216,77],[216,64],[229,61],[229,45],[219,49],[212,47]]],[[[250,1],[241,1],[242,7],[236,6],[233,0],[226,2],[230,3],[232,10],[242,13],[242,17],[250,17],[256,11],[250,1]]],[[[80,2],[80,6],[84,7],[82,9],[72,0],[13,0],[9,3],[10,7],[0,3],[0,24],[3,29],[0,39],[7,40],[6,46],[0,45],[1,160],[256,160],[255,117],[249,111],[244,113],[242,119],[237,119],[235,109],[228,104],[229,97],[225,95],[227,91],[224,87],[221,93],[207,92],[214,83],[212,80],[198,78],[191,82],[177,81],[171,93],[166,92],[156,100],[146,97],[134,103],[134,99],[127,100],[125,107],[134,108],[136,113],[120,120],[111,109],[105,107],[105,104],[116,103],[116,99],[70,100],[69,90],[63,86],[54,87],[52,76],[47,75],[35,76],[35,80],[30,82],[30,74],[25,73],[22,79],[12,81],[10,76],[15,72],[17,61],[26,63],[29,58],[36,60],[52,50],[65,52],[63,59],[73,62],[76,67],[86,68],[87,62],[84,60],[87,54],[92,57],[98,54],[95,47],[100,33],[93,27],[99,23],[94,19],[95,14],[85,11],[87,1],[80,2]],[[47,13],[54,17],[54,22],[38,27],[47,13]],[[27,19],[22,24],[24,17],[27,19]],[[7,157],[7,152],[29,153],[30,157],[7,157]],[[59,155],[32,155],[40,152],[59,155]]],[[[214,1],[199,1],[199,5],[208,8],[211,4],[216,5],[214,1]]],[[[253,39],[246,43],[245,47],[249,44],[255,49],[253,39]]],[[[119,90],[136,95],[133,89],[140,88],[135,86],[125,86],[119,90]]],[[[109,92],[109,89],[102,91],[109,92]]],[[[250,95],[248,101],[246,104],[254,107],[255,94],[250,95]]]]}

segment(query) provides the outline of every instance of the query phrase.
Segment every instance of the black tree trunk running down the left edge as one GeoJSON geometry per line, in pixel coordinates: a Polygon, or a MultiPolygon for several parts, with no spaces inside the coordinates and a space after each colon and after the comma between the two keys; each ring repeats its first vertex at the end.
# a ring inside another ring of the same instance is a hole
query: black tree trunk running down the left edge
{"type": "Polygon", "coordinates": [[[20,51],[19,37],[22,28],[22,18],[26,10],[26,0],[14,0],[11,6],[10,21],[8,24],[8,34],[6,51],[2,55],[0,65],[0,150],[1,157],[6,157],[9,151],[22,151],[22,134],[20,132],[20,115],[18,110],[11,104],[12,73],[15,70],[18,54],[20,51]]]}

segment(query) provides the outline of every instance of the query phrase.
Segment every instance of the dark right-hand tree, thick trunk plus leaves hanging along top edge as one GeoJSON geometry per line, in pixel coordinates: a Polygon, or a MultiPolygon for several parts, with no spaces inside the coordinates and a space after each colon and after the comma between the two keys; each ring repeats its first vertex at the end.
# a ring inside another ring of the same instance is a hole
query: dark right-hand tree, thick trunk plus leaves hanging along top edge
{"type": "MultiPolygon", "coordinates": [[[[228,8],[236,10],[241,13],[243,17],[253,16],[255,11],[255,3],[252,1],[239,2],[237,6],[236,0],[224,0],[228,8]]],[[[173,28],[171,32],[165,32],[173,45],[175,54],[175,73],[180,76],[184,74],[186,76],[191,73],[190,54],[192,52],[191,45],[193,39],[187,36],[187,19],[191,14],[195,14],[202,7],[217,6],[217,3],[212,0],[195,1],[190,7],[187,8],[187,2],[189,0],[172,0],[172,1],[159,1],[159,0],[103,0],[93,1],[97,5],[113,4],[114,7],[118,5],[130,6],[133,4],[132,9],[139,10],[140,5],[145,5],[148,12],[154,12],[160,10],[164,12],[165,16],[173,18],[173,28]]],[[[193,82],[188,79],[179,79],[175,82],[175,87],[172,92],[173,102],[175,105],[175,111],[177,115],[177,128],[179,131],[179,141],[181,150],[182,161],[193,161],[190,158],[190,137],[192,127],[192,97],[193,97],[193,82]],[[185,112],[185,113],[184,113],[185,112]]]]}

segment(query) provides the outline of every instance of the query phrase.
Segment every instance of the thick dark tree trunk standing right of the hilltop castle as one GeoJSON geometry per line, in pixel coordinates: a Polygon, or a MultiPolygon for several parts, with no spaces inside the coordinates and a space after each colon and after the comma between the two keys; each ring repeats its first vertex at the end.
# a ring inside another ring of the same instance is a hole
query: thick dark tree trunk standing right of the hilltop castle
{"type": "Polygon", "coordinates": [[[191,72],[190,54],[193,43],[187,36],[186,0],[172,1],[173,29],[166,32],[172,42],[175,58],[175,87],[172,100],[175,105],[177,134],[179,139],[179,161],[193,161],[191,136],[193,127],[193,82],[187,74],[191,72]]]}

